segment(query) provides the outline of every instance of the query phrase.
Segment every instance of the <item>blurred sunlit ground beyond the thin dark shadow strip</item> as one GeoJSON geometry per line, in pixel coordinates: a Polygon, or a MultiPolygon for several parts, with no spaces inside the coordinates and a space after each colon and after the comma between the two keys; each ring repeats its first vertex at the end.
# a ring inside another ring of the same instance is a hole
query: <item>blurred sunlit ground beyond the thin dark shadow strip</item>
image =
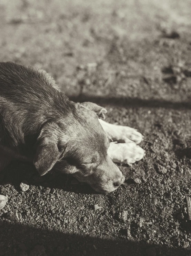
{"type": "Polygon", "coordinates": [[[190,0],[1,0],[0,61],[68,96],[189,102],[190,0]]]}

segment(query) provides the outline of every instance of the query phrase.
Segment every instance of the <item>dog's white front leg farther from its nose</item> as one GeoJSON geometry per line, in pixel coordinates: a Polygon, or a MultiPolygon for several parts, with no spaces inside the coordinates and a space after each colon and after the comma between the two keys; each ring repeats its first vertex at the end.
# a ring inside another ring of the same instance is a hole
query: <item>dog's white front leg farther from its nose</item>
{"type": "Polygon", "coordinates": [[[136,144],[139,144],[143,140],[143,135],[136,129],[128,126],[109,124],[101,119],[99,119],[99,121],[103,130],[112,141],[121,143],[134,141],[136,144]]]}

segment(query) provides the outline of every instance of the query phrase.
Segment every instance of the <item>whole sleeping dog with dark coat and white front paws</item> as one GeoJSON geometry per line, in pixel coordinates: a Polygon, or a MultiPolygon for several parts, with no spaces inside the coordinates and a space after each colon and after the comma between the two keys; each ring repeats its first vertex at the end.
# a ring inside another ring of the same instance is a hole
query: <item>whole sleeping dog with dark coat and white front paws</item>
{"type": "Polygon", "coordinates": [[[20,159],[40,175],[53,168],[97,192],[114,191],[125,178],[113,161],[142,159],[143,136],[104,122],[106,112],[69,100],[44,70],[0,62],[0,170],[20,159]]]}

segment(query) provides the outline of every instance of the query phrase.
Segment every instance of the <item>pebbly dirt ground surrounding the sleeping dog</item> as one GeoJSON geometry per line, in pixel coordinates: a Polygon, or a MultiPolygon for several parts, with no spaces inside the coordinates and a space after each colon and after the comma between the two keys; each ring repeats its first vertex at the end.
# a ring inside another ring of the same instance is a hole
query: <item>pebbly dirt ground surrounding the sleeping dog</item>
{"type": "Polygon", "coordinates": [[[46,70],[71,99],[138,129],[146,150],[119,165],[125,183],[109,194],[13,162],[0,174],[0,255],[191,255],[190,10],[190,0],[0,1],[0,61],[46,70]]]}

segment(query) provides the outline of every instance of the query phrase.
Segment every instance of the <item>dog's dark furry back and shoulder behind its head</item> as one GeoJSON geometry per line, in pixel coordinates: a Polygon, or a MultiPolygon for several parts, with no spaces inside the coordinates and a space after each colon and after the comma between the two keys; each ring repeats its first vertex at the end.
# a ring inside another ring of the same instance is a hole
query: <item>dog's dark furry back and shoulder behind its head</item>
{"type": "Polygon", "coordinates": [[[72,107],[45,71],[0,62],[1,145],[17,146],[29,137],[35,141],[33,136],[39,135],[45,122],[67,115],[72,107]]]}

